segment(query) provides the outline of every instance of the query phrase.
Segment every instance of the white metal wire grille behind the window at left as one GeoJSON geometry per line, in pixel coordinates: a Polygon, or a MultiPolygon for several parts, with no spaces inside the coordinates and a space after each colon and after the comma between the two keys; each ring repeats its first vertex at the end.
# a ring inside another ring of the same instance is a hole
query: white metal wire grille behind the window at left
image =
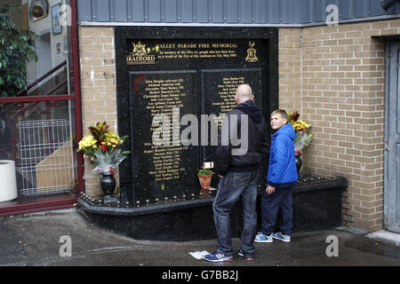
{"type": "Polygon", "coordinates": [[[22,195],[62,193],[74,185],[73,149],[66,119],[21,121],[22,195]]]}

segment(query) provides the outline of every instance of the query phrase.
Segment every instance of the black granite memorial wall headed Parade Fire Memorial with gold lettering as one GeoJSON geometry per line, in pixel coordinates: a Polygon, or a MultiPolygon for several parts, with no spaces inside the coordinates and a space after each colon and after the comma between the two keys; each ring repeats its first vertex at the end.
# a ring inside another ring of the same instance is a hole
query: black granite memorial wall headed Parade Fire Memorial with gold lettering
{"type": "MultiPolygon", "coordinates": [[[[271,95],[275,49],[269,29],[261,29],[261,36],[255,29],[246,35],[235,29],[229,38],[220,28],[212,36],[210,28],[200,28],[201,35],[199,28],[197,35],[184,28],[156,29],[140,35],[134,28],[116,28],[118,130],[130,136],[132,151],[120,166],[121,193],[136,207],[210,196],[196,173],[203,162],[213,162],[217,130],[236,106],[239,84],[252,86],[267,120],[277,104],[277,94],[271,95]]],[[[260,183],[266,169],[267,161],[260,183]]],[[[212,187],[218,181],[214,175],[212,187]]]]}

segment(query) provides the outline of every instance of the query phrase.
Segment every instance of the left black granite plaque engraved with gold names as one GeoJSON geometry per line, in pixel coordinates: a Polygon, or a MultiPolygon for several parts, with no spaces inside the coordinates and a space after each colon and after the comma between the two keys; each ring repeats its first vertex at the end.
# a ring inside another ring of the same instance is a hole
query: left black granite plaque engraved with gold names
{"type": "Polygon", "coordinates": [[[198,149],[180,143],[180,116],[197,116],[196,79],[196,70],[130,72],[136,204],[198,193],[198,149]]]}

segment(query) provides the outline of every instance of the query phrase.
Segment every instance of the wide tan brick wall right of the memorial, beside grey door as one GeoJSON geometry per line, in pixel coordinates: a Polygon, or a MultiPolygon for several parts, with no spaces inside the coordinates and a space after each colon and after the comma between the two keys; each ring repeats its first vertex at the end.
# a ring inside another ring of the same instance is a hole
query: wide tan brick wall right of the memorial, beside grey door
{"type": "Polygon", "coordinates": [[[369,232],[382,227],[384,174],[385,43],[372,36],[399,34],[400,20],[280,28],[280,106],[313,124],[303,171],[347,177],[344,225],[369,232]]]}

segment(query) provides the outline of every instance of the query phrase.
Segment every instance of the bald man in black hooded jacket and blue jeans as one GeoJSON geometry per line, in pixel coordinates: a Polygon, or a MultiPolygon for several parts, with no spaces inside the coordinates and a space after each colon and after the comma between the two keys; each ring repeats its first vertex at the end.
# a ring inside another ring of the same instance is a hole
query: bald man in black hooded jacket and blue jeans
{"type": "Polygon", "coordinates": [[[267,122],[260,107],[255,105],[252,88],[248,84],[237,87],[235,101],[237,106],[228,112],[222,122],[214,159],[215,170],[220,177],[212,204],[218,243],[212,254],[204,256],[205,260],[211,262],[233,260],[229,213],[240,197],[244,228],[241,248],[237,253],[246,260],[252,260],[255,251],[253,241],[257,226],[258,171],[262,159],[266,159],[263,155],[268,154],[270,139],[267,122]],[[222,143],[224,140],[228,143],[222,143]]]}

